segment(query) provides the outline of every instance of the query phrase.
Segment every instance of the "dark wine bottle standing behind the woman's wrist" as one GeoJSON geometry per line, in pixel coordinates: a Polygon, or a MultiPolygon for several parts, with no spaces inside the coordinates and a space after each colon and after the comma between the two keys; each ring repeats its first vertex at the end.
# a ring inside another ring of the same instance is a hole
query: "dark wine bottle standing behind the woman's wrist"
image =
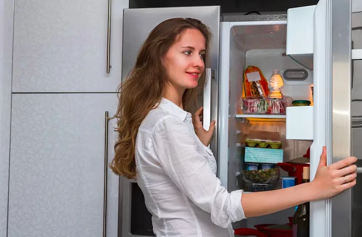
{"type": "MultiPolygon", "coordinates": [[[[309,182],[309,167],[303,167],[302,183],[309,182]]],[[[293,237],[309,237],[309,202],[300,204],[293,216],[293,237]]]]}

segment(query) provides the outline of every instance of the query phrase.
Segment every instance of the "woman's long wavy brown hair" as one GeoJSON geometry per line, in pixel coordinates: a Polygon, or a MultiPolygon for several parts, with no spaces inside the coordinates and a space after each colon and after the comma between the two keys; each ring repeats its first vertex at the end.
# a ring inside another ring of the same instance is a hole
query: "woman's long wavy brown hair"
{"type": "MultiPolygon", "coordinates": [[[[198,29],[206,39],[205,66],[209,63],[211,31],[201,21],[192,18],[173,18],[161,22],[148,35],[142,45],[136,65],[120,85],[117,118],[118,141],[114,145],[115,157],[111,169],[116,175],[135,178],[135,144],[138,129],[149,111],[162,98],[167,70],[162,63],[164,55],[186,29],[198,29]]],[[[205,84],[205,71],[199,79],[199,86],[187,89],[182,102],[186,111],[193,112],[197,96],[205,84]]]]}

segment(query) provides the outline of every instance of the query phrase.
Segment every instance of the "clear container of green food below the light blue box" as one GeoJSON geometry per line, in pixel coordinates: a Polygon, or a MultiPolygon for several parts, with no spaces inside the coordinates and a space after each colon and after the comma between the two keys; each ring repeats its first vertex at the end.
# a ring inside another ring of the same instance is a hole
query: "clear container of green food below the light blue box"
{"type": "Polygon", "coordinates": [[[279,169],[241,171],[240,173],[247,183],[276,183],[280,178],[279,169]]]}

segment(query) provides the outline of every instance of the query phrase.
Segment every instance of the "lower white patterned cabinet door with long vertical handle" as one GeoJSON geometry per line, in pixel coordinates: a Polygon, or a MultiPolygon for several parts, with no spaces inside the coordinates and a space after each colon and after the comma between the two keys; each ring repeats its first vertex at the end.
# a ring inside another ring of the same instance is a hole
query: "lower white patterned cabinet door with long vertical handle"
{"type": "MultiPolygon", "coordinates": [[[[103,236],[105,112],[116,108],[116,93],[12,95],[8,237],[103,236]]],[[[117,237],[119,178],[109,168],[107,182],[107,237],[117,237]]]]}

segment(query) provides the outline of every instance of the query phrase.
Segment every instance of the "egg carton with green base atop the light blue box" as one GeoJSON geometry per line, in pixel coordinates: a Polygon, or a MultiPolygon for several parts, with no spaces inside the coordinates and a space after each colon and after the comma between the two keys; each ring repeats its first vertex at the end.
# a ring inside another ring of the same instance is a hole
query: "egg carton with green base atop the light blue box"
{"type": "Polygon", "coordinates": [[[245,143],[249,147],[279,149],[282,146],[279,132],[250,130],[245,143]]]}

